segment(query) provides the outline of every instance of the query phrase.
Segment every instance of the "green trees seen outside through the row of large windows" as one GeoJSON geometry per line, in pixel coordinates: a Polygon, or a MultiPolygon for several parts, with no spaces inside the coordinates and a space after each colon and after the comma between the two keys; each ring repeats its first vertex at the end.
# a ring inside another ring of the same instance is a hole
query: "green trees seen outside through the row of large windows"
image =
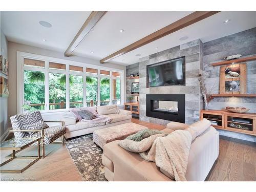
{"type": "MultiPolygon", "coordinates": [[[[83,77],[70,75],[70,102],[83,101],[83,77]]],[[[98,78],[87,77],[87,101],[97,100],[98,78]]],[[[116,81],[116,97],[120,99],[120,80],[116,81]]],[[[100,79],[100,100],[110,100],[110,79],[100,79]]],[[[24,100],[23,108],[26,111],[45,110],[45,73],[24,71],[24,100]],[[42,104],[31,107],[29,104],[42,104]]],[[[49,101],[66,102],[66,74],[49,73],[49,101]]],[[[55,109],[59,109],[56,105],[55,109]]],[[[50,108],[51,109],[51,108],[50,108]]],[[[54,109],[54,108],[53,108],[54,109]]]]}

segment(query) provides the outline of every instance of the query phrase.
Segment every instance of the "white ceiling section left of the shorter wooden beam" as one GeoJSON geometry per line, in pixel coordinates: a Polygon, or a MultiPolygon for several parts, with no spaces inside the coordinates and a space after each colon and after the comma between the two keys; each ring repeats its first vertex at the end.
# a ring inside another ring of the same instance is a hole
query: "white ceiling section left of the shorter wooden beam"
{"type": "Polygon", "coordinates": [[[64,52],[90,13],[90,11],[1,11],[1,29],[9,41],[64,52]],[[41,26],[40,20],[49,22],[52,27],[41,26]]]}

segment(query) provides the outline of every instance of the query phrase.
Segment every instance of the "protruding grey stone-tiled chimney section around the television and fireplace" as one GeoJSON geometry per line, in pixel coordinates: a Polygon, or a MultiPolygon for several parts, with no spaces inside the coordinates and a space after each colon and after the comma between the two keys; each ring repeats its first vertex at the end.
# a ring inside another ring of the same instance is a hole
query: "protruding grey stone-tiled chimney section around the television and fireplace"
{"type": "Polygon", "coordinates": [[[185,123],[193,123],[199,120],[199,112],[202,108],[200,101],[200,88],[197,80],[202,70],[202,42],[200,39],[187,42],[186,44],[170,48],[159,53],[140,59],[140,120],[166,125],[167,120],[146,117],[146,94],[185,94],[185,123]],[[147,88],[146,66],[156,62],[185,56],[186,62],[186,85],[164,86],[147,88]]]}

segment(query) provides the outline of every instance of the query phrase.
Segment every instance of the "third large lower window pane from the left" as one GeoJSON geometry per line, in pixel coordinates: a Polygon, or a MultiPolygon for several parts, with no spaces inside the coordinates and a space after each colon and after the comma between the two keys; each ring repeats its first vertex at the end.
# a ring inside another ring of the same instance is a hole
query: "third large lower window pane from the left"
{"type": "Polygon", "coordinates": [[[83,77],[78,75],[69,76],[69,99],[70,108],[83,106],[83,77]]]}

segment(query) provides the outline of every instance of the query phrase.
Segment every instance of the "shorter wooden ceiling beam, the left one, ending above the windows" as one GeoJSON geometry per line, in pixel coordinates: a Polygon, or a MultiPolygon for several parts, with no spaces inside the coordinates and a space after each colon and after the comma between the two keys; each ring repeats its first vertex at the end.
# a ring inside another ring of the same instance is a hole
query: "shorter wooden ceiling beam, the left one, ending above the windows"
{"type": "Polygon", "coordinates": [[[93,29],[101,17],[106,13],[106,11],[92,11],[86,22],[82,25],[81,29],[78,31],[68,49],[65,51],[65,56],[69,57],[80,44],[80,42],[87,36],[87,34],[93,29]]]}

